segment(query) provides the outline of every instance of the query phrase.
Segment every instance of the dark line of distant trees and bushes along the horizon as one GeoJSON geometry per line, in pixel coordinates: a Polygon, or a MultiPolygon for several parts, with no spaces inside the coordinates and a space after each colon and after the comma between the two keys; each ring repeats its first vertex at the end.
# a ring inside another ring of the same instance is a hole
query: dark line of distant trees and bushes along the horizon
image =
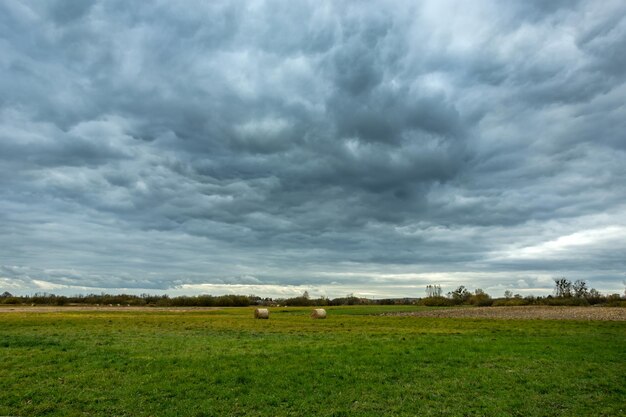
{"type": "Polygon", "coordinates": [[[177,296],[150,294],[88,294],[76,296],[36,293],[16,296],[0,294],[0,304],[13,305],[92,305],[92,306],[153,306],[153,307],[246,307],[246,306],[341,306],[341,305],[424,305],[424,306],[522,306],[522,305],[609,305],[626,307],[626,291],[620,294],[601,294],[588,288],[584,280],[554,280],[554,295],[526,296],[504,292],[504,297],[492,298],[480,288],[470,291],[464,285],[444,295],[440,285],[427,285],[424,298],[369,299],[349,294],[339,298],[311,298],[308,291],[291,298],[262,298],[255,295],[197,295],[177,296]]]}

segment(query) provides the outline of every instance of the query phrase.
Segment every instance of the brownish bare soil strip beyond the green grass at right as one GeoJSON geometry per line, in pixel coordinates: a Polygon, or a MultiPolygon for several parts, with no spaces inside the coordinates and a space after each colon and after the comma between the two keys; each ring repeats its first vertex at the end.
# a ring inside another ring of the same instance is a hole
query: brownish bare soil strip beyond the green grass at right
{"type": "Polygon", "coordinates": [[[385,313],[386,316],[449,317],[498,320],[611,320],[626,321],[626,308],[619,307],[457,307],[436,310],[385,313]]]}

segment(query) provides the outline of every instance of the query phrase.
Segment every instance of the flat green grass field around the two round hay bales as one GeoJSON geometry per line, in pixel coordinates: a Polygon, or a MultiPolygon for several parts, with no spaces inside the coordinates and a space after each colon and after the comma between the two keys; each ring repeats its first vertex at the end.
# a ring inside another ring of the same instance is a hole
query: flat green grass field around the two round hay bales
{"type": "Polygon", "coordinates": [[[390,309],[0,310],[0,415],[626,415],[626,322],[390,309]]]}

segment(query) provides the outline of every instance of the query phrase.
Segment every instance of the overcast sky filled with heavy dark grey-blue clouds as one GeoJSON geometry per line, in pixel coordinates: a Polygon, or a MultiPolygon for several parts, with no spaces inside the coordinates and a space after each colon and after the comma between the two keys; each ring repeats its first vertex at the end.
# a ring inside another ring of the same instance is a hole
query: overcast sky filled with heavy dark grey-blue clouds
{"type": "Polygon", "coordinates": [[[0,2],[0,291],[626,286],[626,3],[0,2]]]}

